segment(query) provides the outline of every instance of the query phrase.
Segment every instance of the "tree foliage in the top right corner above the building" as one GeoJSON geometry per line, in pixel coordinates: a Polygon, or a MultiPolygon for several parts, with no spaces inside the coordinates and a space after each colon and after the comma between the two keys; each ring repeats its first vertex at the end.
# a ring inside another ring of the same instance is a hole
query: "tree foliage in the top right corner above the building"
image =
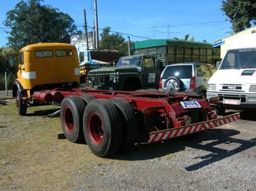
{"type": "Polygon", "coordinates": [[[222,1],[221,9],[230,18],[234,33],[256,24],[256,0],[222,1]]]}

